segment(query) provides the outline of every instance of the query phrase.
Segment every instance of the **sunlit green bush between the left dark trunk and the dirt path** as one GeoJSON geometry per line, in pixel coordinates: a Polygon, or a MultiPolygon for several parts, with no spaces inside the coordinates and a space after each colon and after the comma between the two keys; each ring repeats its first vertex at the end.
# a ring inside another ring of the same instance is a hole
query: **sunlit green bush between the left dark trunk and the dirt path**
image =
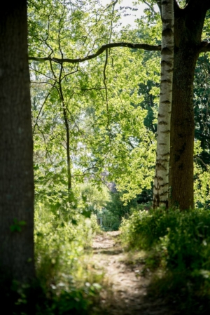
{"type": "MultiPolygon", "coordinates": [[[[87,314],[99,295],[102,274],[92,272],[84,252],[98,229],[94,215],[89,219],[74,213],[67,222],[42,205],[36,207],[36,275],[45,296],[50,297],[48,309],[53,314],[87,314]]],[[[37,315],[42,314],[48,314],[43,307],[37,315]]]]}

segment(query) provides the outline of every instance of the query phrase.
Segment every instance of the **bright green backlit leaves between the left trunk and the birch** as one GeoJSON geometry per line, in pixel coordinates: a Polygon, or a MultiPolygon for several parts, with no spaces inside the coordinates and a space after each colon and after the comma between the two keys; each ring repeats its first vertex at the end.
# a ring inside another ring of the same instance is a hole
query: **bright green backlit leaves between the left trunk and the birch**
{"type": "MultiPolygon", "coordinates": [[[[99,8],[97,1],[75,1],[72,6],[65,1],[45,1],[42,6],[31,0],[29,54],[75,58],[111,40],[130,40],[131,33],[133,40],[140,32],[148,40],[155,34],[153,43],[160,38],[157,17],[148,17],[151,29],[139,20],[138,32],[124,28],[116,32],[119,16],[111,6],[99,8]]],[[[155,137],[144,125],[148,107],[146,102],[145,107],[139,106],[144,101],[139,83],[145,87],[148,76],[158,82],[156,58],[115,48],[84,64],[32,61],[30,69],[38,197],[52,200],[52,195],[56,199],[59,194],[63,198],[70,177],[73,191],[87,179],[99,186],[104,170],[118,190],[127,192],[125,201],[150,187],[155,137]]]]}

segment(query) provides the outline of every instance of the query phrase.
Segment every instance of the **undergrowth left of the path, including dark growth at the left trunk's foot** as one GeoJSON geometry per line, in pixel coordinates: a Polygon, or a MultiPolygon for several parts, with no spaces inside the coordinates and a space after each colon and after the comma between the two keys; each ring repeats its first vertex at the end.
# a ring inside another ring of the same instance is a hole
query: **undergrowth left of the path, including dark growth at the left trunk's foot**
{"type": "Polygon", "coordinates": [[[73,211],[64,220],[50,208],[36,204],[36,280],[30,286],[20,285],[1,273],[5,314],[94,315],[92,306],[97,303],[104,277],[94,269],[88,253],[96,232],[99,227],[94,215],[87,218],[73,211]]]}

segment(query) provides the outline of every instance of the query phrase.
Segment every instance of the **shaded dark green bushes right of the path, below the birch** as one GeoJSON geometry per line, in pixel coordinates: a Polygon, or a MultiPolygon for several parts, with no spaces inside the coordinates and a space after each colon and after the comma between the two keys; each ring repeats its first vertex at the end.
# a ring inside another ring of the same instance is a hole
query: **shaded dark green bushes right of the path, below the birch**
{"type": "Polygon", "coordinates": [[[176,301],[185,314],[204,314],[202,302],[210,299],[209,211],[136,210],[121,229],[125,246],[147,251],[146,268],[162,270],[155,294],[176,301]]]}

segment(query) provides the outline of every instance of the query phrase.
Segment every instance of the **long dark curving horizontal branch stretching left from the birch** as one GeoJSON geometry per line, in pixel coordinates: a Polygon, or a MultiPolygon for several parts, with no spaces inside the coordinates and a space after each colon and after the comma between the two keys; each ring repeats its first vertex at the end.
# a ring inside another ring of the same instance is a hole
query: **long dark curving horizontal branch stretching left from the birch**
{"type": "Polygon", "coordinates": [[[39,61],[39,62],[53,61],[53,62],[57,62],[59,64],[62,64],[64,62],[78,63],[78,62],[84,62],[86,60],[96,58],[98,55],[101,55],[102,53],[104,53],[104,51],[106,51],[106,49],[114,48],[114,47],[127,47],[127,48],[133,48],[133,49],[144,49],[145,51],[161,51],[161,45],[153,46],[153,45],[148,45],[146,43],[120,42],[120,43],[107,43],[106,45],[103,45],[101,48],[99,48],[96,53],[93,53],[92,55],[87,55],[84,58],[76,58],[76,59],[51,58],[50,56],[45,57],[45,58],[38,58],[38,57],[30,57],[29,56],[29,60],[34,60],[34,61],[39,61]]]}

